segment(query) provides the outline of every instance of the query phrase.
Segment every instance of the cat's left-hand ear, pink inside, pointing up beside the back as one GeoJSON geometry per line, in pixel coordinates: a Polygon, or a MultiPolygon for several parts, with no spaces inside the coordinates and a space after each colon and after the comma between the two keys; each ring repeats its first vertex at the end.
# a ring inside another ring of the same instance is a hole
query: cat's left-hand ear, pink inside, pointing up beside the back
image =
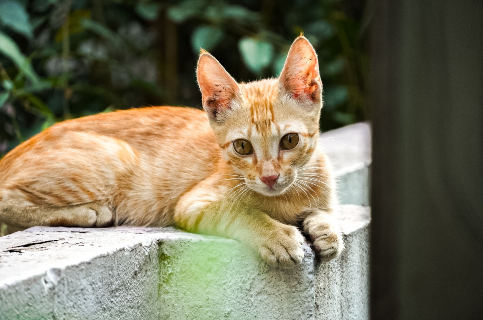
{"type": "Polygon", "coordinates": [[[210,120],[223,121],[233,107],[234,99],[240,94],[237,82],[218,60],[204,50],[199,56],[196,73],[203,109],[210,120]]]}

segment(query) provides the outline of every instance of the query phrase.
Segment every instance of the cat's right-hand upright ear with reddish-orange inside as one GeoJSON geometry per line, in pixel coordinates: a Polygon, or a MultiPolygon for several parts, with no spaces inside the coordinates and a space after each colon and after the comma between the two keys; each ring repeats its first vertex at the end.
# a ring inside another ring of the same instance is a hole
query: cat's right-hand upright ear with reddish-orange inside
{"type": "Polygon", "coordinates": [[[294,99],[321,103],[322,82],[317,54],[304,36],[295,39],[290,47],[279,83],[294,99]]]}

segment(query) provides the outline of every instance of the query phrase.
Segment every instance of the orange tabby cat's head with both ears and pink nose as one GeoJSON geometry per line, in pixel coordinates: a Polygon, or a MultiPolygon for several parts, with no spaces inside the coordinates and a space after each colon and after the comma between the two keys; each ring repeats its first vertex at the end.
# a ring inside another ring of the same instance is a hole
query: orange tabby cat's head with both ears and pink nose
{"type": "Polygon", "coordinates": [[[223,158],[265,195],[297,185],[318,140],[322,82],[315,50],[298,37],[276,79],[237,83],[209,53],[198,61],[203,108],[223,158]]]}

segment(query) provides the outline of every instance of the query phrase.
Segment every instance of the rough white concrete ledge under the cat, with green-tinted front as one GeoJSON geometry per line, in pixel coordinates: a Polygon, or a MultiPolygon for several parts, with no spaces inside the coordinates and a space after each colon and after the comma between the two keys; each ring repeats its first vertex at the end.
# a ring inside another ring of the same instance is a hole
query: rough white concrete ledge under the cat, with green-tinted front
{"type": "Polygon", "coordinates": [[[369,210],[341,219],[342,258],[319,263],[305,244],[292,270],[172,228],[30,228],[0,239],[0,319],[368,319],[369,210]]]}

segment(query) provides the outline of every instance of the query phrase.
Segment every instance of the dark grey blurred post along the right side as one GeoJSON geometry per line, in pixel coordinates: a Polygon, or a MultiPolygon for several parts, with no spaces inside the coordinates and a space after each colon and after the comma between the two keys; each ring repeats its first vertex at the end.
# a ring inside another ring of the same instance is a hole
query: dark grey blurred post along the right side
{"type": "Polygon", "coordinates": [[[374,2],[372,319],[483,319],[483,1],[374,2]]]}

